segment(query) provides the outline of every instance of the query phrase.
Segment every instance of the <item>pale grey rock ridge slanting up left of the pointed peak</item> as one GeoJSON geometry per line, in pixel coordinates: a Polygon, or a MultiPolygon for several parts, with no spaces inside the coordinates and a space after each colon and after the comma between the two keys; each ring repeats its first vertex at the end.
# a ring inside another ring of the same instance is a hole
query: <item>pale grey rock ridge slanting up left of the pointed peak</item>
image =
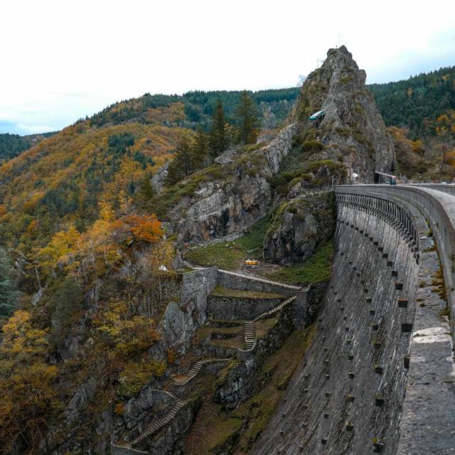
{"type": "Polygon", "coordinates": [[[265,215],[272,200],[269,179],[291,149],[295,131],[296,126],[290,125],[266,146],[232,155],[232,163],[213,165],[215,178],[203,178],[199,173],[183,182],[188,186],[196,183],[196,191],[169,212],[178,240],[221,237],[265,215]]]}

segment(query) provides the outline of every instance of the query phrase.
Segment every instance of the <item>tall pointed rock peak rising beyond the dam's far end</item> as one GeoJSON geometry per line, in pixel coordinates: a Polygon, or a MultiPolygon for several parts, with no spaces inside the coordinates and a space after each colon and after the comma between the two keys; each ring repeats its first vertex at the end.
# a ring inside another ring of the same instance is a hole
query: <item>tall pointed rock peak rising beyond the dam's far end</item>
{"type": "Polygon", "coordinates": [[[329,49],[327,59],[304,82],[293,114],[299,122],[302,144],[320,141],[323,150],[309,159],[343,161],[348,180],[373,182],[374,171],[393,173],[395,149],[373,95],[365,86],[366,74],[343,45],[329,49]],[[323,110],[318,124],[309,116],[323,110]]]}

